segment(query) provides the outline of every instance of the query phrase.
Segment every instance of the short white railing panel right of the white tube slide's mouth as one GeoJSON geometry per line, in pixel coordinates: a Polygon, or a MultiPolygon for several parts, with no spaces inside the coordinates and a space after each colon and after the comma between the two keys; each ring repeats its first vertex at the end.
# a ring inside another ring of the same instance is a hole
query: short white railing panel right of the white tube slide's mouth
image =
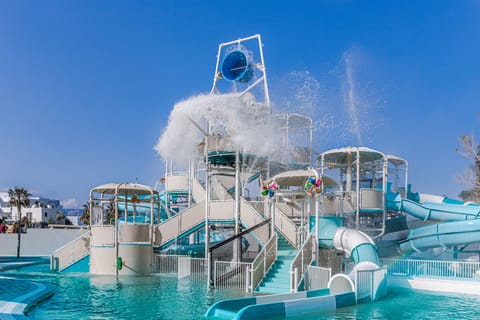
{"type": "Polygon", "coordinates": [[[355,295],[357,302],[372,302],[387,295],[387,268],[356,270],[355,295]]]}

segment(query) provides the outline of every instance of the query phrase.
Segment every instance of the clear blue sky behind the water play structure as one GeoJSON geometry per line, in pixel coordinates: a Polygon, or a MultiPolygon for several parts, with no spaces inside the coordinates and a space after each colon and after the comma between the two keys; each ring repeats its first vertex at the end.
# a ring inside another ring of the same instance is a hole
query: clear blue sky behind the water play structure
{"type": "MultiPolygon", "coordinates": [[[[308,72],[318,117],[347,121],[349,64],[362,144],[407,159],[415,191],[464,189],[455,149],[480,134],[480,1],[0,0],[0,190],[70,207],[102,183],[153,185],[173,105],[210,90],[219,43],[257,33],[274,103],[308,72]]],[[[359,143],[333,132],[317,151],[359,143]]]]}

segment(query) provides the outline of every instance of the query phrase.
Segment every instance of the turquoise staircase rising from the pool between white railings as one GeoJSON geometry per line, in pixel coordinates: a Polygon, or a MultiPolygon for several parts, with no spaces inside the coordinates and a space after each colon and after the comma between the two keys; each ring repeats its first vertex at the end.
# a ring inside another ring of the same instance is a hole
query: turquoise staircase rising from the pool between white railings
{"type": "Polygon", "coordinates": [[[290,265],[298,250],[295,249],[282,235],[278,235],[277,260],[262,283],[258,286],[257,292],[261,293],[288,293],[290,292],[290,265]]]}

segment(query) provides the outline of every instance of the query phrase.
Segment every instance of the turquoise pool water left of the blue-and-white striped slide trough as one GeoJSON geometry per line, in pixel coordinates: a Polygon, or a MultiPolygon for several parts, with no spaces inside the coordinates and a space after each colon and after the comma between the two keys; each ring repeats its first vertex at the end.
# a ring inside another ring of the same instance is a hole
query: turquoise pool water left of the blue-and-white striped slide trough
{"type": "Polygon", "coordinates": [[[244,296],[242,289],[207,290],[203,281],[176,275],[94,276],[50,273],[48,267],[2,273],[55,285],[55,294],[33,307],[27,319],[201,319],[217,300],[244,296]],[[32,271],[34,270],[34,271],[32,271]]]}

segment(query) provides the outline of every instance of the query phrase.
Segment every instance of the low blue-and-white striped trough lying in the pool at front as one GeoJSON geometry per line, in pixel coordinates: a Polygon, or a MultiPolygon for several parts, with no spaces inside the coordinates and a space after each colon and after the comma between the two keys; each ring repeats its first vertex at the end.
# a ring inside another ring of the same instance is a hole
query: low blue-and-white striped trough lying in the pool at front
{"type": "Polygon", "coordinates": [[[356,304],[355,293],[330,295],[329,289],[227,299],[213,304],[205,314],[215,319],[278,319],[333,311],[356,304]]]}

